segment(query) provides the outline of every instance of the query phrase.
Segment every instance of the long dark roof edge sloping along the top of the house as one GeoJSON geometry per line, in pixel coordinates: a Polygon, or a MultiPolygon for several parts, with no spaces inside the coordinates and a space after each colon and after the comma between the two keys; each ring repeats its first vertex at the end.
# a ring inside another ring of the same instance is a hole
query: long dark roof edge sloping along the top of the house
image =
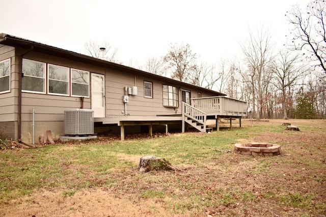
{"type": "Polygon", "coordinates": [[[58,48],[58,47],[53,47],[53,46],[50,46],[50,45],[46,45],[46,44],[42,44],[42,43],[39,43],[39,42],[31,41],[31,40],[28,40],[28,39],[19,38],[19,37],[16,37],[16,36],[5,34],[5,33],[0,34],[0,44],[12,46],[12,47],[20,47],[20,48],[23,48],[23,49],[30,49],[32,46],[34,46],[34,49],[33,49],[34,51],[45,53],[47,55],[52,55],[52,56],[54,55],[54,56],[62,57],[62,58],[73,60],[73,61],[89,63],[89,64],[92,64],[92,65],[97,65],[97,66],[101,66],[101,67],[105,67],[105,68],[110,68],[110,69],[114,69],[114,70],[118,70],[118,71],[123,71],[123,72],[131,73],[131,74],[135,74],[135,75],[141,75],[141,76],[144,76],[144,77],[150,77],[150,78],[153,78],[153,79],[155,78],[155,79],[159,79],[161,81],[164,81],[166,83],[177,84],[178,86],[181,86],[183,88],[185,88],[185,87],[196,88],[198,90],[203,90],[203,91],[206,91],[206,92],[210,92],[210,93],[212,93],[213,95],[216,95],[216,96],[226,96],[226,94],[223,94],[223,93],[220,93],[220,92],[217,92],[217,91],[213,91],[213,90],[210,90],[210,89],[207,89],[207,88],[202,88],[202,87],[199,87],[199,86],[196,86],[196,85],[191,85],[191,84],[187,84],[187,83],[184,83],[184,82],[180,82],[179,80],[175,80],[175,79],[172,79],[172,78],[152,74],[152,73],[145,72],[145,71],[142,71],[142,70],[139,70],[139,69],[131,68],[131,67],[128,67],[128,66],[117,64],[117,63],[108,62],[108,61],[101,60],[101,59],[98,59],[98,58],[83,55],[81,53],[73,52],[73,51],[70,51],[70,50],[65,50],[65,49],[58,48]]]}

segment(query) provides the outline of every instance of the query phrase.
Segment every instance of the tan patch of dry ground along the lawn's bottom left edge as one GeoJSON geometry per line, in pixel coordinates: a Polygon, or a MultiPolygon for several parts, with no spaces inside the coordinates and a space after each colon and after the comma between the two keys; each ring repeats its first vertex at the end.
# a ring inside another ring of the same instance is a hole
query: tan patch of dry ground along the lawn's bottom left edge
{"type": "Polygon", "coordinates": [[[168,216],[155,201],[117,195],[107,188],[88,188],[73,196],[60,192],[39,192],[12,201],[5,216],[168,216]]]}

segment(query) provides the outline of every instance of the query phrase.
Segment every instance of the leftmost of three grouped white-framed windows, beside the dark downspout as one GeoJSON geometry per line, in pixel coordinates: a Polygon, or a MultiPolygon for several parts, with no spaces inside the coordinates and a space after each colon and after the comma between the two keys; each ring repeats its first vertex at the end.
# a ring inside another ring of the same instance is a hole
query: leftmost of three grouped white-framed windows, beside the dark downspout
{"type": "Polygon", "coordinates": [[[22,60],[22,91],[45,93],[45,63],[22,60]]]}

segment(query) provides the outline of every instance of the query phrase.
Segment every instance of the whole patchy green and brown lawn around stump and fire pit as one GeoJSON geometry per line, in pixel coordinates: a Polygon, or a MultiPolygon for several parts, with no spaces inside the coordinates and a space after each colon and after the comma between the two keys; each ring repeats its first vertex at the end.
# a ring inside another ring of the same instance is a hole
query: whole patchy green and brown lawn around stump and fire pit
{"type": "Polygon", "coordinates": [[[15,148],[0,151],[0,168],[1,216],[324,216],[326,120],[15,148]],[[279,144],[281,154],[233,151],[247,142],[279,144]],[[140,173],[145,155],[181,171],[140,173]]]}

